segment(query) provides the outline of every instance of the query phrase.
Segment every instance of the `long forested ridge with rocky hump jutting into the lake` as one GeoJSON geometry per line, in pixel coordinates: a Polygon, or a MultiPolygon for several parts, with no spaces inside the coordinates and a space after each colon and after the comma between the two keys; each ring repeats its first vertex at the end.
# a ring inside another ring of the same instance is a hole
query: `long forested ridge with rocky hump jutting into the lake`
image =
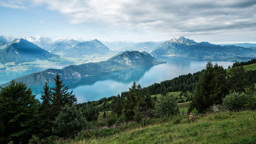
{"type": "MultiPolygon", "coordinates": [[[[86,76],[94,76],[98,74],[105,74],[109,72],[116,72],[122,70],[131,70],[134,68],[142,68],[146,66],[153,66],[156,64],[163,64],[166,62],[156,60],[150,54],[143,54],[138,51],[126,52],[114,58],[102,62],[89,62],[81,65],[71,65],[60,69],[47,69],[41,72],[36,72],[26,76],[16,78],[16,82],[24,82],[27,86],[36,86],[47,83],[53,83],[56,74],[59,74],[62,80],[72,78],[82,78],[86,76]]],[[[7,86],[9,83],[3,84],[7,86]]]]}

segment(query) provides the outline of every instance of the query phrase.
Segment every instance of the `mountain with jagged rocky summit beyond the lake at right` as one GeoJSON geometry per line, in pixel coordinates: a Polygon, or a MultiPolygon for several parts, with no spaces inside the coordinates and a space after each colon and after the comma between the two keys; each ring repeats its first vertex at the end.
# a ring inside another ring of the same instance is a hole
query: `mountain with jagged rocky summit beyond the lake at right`
{"type": "Polygon", "coordinates": [[[182,56],[194,60],[207,60],[208,58],[218,60],[218,58],[227,59],[234,56],[255,57],[256,48],[218,46],[208,42],[197,43],[194,40],[180,37],[163,42],[151,54],[154,56],[182,56]]]}

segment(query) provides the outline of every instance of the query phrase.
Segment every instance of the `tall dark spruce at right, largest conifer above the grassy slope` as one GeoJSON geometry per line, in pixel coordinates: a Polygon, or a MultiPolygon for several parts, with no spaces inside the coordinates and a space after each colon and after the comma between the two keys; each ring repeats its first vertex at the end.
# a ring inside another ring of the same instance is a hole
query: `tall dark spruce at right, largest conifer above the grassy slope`
{"type": "Polygon", "coordinates": [[[206,64],[206,69],[202,71],[196,84],[196,93],[190,103],[189,111],[196,108],[198,112],[203,113],[214,104],[218,89],[217,82],[216,72],[212,62],[209,60],[206,64]]]}

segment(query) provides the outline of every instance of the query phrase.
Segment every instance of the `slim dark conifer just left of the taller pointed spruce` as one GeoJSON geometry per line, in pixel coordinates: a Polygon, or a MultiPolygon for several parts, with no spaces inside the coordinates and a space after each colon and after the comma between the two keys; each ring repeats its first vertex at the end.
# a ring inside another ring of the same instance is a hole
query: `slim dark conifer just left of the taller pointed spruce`
{"type": "Polygon", "coordinates": [[[45,83],[43,92],[41,93],[42,104],[40,106],[40,112],[42,114],[44,133],[46,136],[50,136],[52,132],[52,122],[55,118],[52,115],[52,92],[47,83],[45,83]]]}

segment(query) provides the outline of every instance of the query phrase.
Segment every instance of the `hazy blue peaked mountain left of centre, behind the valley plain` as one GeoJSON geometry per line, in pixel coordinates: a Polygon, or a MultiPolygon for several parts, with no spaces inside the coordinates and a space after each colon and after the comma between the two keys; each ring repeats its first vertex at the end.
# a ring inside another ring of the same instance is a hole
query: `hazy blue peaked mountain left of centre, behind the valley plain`
{"type": "Polygon", "coordinates": [[[98,40],[92,40],[88,42],[80,42],[76,44],[73,48],[71,48],[64,56],[67,57],[83,57],[85,55],[92,55],[92,54],[106,54],[110,52],[108,47],[104,46],[98,40]]]}

